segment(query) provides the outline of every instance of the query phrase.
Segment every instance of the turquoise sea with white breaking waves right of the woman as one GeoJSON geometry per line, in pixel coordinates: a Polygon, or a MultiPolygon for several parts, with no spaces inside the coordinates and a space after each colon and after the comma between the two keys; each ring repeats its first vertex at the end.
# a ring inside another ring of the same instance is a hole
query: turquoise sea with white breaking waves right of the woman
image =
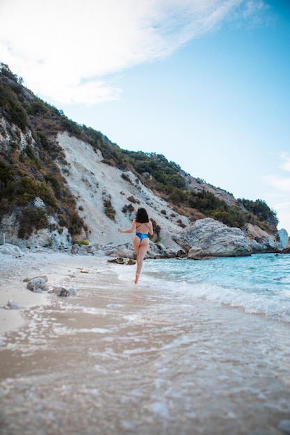
{"type": "Polygon", "coordinates": [[[290,255],[146,260],[143,283],[290,322],[290,255]]]}

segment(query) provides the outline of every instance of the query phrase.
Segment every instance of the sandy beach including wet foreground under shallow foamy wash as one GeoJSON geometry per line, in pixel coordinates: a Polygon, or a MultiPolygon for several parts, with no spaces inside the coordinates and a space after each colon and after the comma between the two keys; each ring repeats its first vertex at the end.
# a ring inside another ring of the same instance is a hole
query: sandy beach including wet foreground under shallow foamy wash
{"type": "MultiPolygon", "coordinates": [[[[1,435],[290,433],[289,324],[134,285],[135,266],[2,255],[1,435]],[[31,293],[26,278],[76,296],[31,293]]],[[[146,270],[146,263],[145,263],[146,270]]]]}

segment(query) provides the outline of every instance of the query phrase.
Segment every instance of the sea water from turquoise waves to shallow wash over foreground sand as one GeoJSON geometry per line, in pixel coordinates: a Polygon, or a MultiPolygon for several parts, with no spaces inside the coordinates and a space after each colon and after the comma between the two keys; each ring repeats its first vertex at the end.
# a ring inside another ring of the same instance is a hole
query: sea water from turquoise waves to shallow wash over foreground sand
{"type": "Polygon", "coordinates": [[[1,435],[290,433],[289,255],[107,268],[1,337],[1,435]]]}

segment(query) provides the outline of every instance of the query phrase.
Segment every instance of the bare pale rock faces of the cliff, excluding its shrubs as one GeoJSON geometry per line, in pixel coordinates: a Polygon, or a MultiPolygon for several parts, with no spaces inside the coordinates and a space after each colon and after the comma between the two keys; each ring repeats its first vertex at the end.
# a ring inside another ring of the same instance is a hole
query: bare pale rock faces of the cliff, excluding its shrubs
{"type": "MultiPolygon", "coordinates": [[[[1,119],[1,147],[9,147],[12,140],[19,138],[17,147],[21,151],[28,143],[33,145],[31,132],[19,136],[17,126],[10,126],[1,119]]],[[[58,133],[58,145],[63,150],[62,158],[57,160],[59,170],[65,177],[67,188],[72,193],[79,214],[86,222],[86,230],[79,234],[79,239],[88,240],[90,246],[106,246],[106,253],[124,255],[118,245],[126,245],[131,235],[120,234],[118,227],[127,228],[134,219],[136,208],[145,206],[160,231],[155,235],[159,248],[152,246],[150,256],[180,255],[181,249],[188,258],[204,258],[205,256],[238,256],[255,252],[283,252],[285,246],[278,237],[268,234],[259,227],[246,224],[244,229],[229,228],[216,220],[205,218],[190,222],[188,217],[177,213],[164,199],[140,182],[133,172],[123,172],[117,167],[103,162],[101,151],[70,136],[69,133],[58,133]],[[109,215],[107,209],[111,209],[109,215]],[[112,219],[113,217],[113,219],[112,219]]],[[[189,179],[189,176],[187,176],[189,179]]],[[[213,188],[214,189],[214,188],[213,188]]],[[[222,194],[223,192],[219,192],[222,194]]],[[[225,192],[223,195],[227,196],[225,192]]],[[[232,195],[228,195],[228,200],[232,195]]],[[[45,208],[42,199],[35,197],[30,204],[38,210],[45,208]]],[[[49,217],[49,227],[33,231],[28,238],[18,236],[17,210],[3,215],[0,224],[1,235],[5,234],[6,242],[21,247],[52,246],[70,248],[72,238],[66,227],[61,227],[58,217],[49,217]]],[[[74,248],[77,252],[79,248],[74,248]]],[[[89,248],[83,247],[87,251],[89,248]]],[[[102,248],[104,249],[104,248],[102,248]]],[[[123,248],[124,250],[124,248],[123,248]]],[[[92,248],[90,247],[92,252],[92,248]]],[[[127,248],[130,256],[130,248],[127,248]],[[129,250],[128,250],[129,249],[129,250]]]]}

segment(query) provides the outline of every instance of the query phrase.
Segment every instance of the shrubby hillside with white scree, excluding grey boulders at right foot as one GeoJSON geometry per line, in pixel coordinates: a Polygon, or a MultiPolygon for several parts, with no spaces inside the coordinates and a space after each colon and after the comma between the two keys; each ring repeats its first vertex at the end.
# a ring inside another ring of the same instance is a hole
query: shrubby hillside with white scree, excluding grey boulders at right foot
{"type": "Polygon", "coordinates": [[[204,217],[277,232],[276,214],[261,199],[235,199],[163,155],[120,149],[35,97],[0,64],[0,231],[6,240],[19,246],[125,243],[117,227],[129,227],[139,204],[152,217],[154,240],[169,247],[173,234],[204,217]]]}

